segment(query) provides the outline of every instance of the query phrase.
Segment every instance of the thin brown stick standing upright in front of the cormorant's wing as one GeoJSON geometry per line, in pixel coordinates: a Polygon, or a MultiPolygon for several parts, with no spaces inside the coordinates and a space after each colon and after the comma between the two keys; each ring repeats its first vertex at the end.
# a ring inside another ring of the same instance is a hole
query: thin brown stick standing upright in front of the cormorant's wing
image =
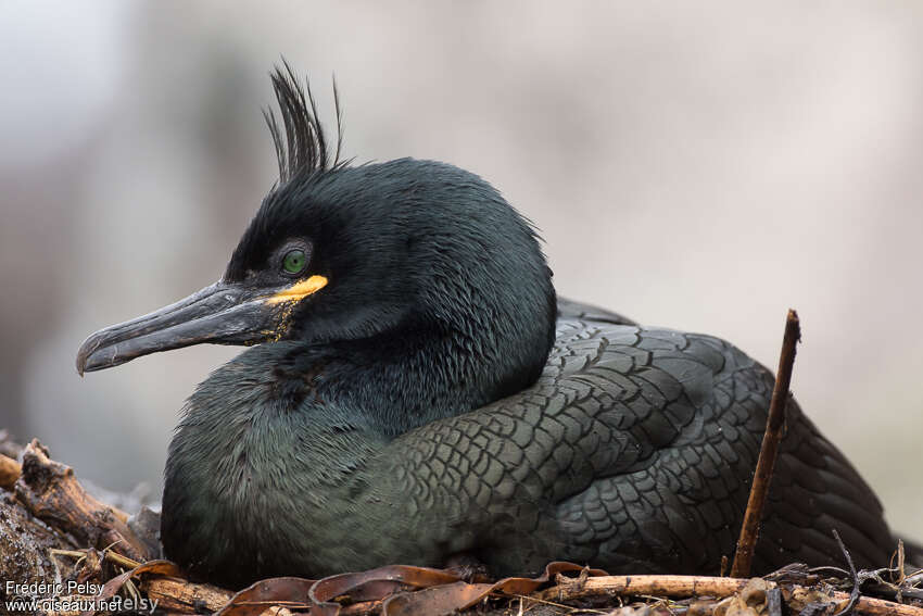
{"type": "Polygon", "coordinates": [[[731,567],[732,578],[750,576],[754,550],[759,537],[759,523],[762,519],[766,496],[772,481],[772,469],[779,454],[779,443],[782,441],[785,405],[788,402],[788,386],[792,384],[792,367],[795,365],[795,351],[799,340],[801,340],[801,325],[798,322],[798,313],[789,309],[788,316],[785,319],[785,336],[782,339],[782,354],[779,357],[775,387],[772,389],[772,401],[769,403],[769,416],[766,419],[766,433],[762,437],[757,468],[754,473],[754,482],[750,487],[750,498],[744,513],[741,538],[737,540],[734,565],[731,567]]]}

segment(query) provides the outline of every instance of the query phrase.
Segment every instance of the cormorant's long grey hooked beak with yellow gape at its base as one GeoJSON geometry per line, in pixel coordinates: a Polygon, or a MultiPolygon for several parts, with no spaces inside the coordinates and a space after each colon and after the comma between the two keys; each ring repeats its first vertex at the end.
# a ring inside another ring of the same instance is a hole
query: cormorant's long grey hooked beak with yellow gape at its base
{"type": "Polygon", "coordinates": [[[279,340],[289,329],[294,304],[326,285],[323,276],[276,289],[215,282],[175,304],[92,334],[77,351],[77,372],[83,376],[141,355],[202,342],[279,340]]]}

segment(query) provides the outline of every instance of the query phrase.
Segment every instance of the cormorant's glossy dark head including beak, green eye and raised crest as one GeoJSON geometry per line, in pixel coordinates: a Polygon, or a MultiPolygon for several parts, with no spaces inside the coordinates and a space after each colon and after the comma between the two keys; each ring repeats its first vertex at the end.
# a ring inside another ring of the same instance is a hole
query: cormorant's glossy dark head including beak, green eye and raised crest
{"type": "Polygon", "coordinates": [[[266,117],[280,177],[222,278],[92,334],[77,370],[203,342],[325,345],[426,331],[452,338],[471,361],[496,359],[508,365],[500,372],[524,364],[536,377],[555,296],[531,225],[488,183],[452,165],[340,162],[309,88],[288,65],[273,85],[281,124],[266,117]]]}

